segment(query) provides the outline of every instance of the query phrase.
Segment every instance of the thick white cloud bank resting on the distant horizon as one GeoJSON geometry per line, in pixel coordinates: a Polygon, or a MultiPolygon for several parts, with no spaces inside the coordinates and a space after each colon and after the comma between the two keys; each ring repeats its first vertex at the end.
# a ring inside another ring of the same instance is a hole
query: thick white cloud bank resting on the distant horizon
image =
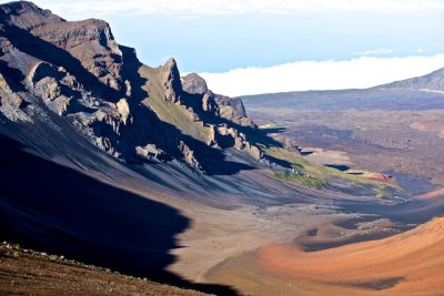
{"type": "Polygon", "coordinates": [[[305,61],[270,68],[200,73],[215,93],[231,96],[286,91],[371,88],[427,74],[444,67],[444,54],[434,57],[371,58],[350,61],[305,61]]]}

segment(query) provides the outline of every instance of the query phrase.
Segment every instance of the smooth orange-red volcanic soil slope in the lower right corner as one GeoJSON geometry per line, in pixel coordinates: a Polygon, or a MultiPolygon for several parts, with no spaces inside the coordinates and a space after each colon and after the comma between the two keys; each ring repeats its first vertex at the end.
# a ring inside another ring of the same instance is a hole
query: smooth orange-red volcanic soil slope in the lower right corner
{"type": "Polygon", "coordinates": [[[443,245],[440,217],[384,239],[319,252],[269,245],[259,254],[268,269],[310,287],[303,295],[443,295],[443,245]]]}

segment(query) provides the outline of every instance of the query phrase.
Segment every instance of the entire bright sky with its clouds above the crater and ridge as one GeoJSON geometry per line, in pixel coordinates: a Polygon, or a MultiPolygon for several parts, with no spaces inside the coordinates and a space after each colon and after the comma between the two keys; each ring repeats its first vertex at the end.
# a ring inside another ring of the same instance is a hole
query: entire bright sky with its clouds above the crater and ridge
{"type": "Polygon", "coordinates": [[[173,57],[232,96],[367,88],[444,67],[444,0],[34,2],[68,20],[104,19],[143,63],[173,57]]]}

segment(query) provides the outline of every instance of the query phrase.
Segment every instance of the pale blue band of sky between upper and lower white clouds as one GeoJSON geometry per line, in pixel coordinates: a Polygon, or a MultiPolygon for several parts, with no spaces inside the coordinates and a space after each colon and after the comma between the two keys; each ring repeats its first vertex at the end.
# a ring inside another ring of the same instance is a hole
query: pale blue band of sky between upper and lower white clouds
{"type": "Polygon", "coordinates": [[[148,63],[175,57],[184,71],[222,72],[305,60],[444,52],[444,17],[369,12],[115,17],[115,37],[148,63]]]}

